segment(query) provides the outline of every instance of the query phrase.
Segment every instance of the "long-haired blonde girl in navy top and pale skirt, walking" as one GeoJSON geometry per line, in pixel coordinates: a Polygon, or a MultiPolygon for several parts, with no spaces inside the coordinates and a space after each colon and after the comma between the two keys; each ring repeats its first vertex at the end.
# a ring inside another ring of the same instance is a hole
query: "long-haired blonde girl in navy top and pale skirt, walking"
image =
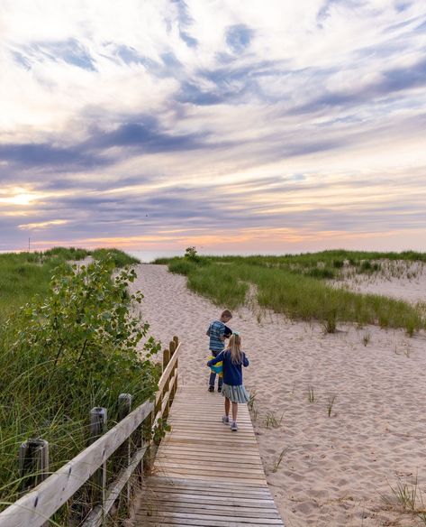
{"type": "Polygon", "coordinates": [[[225,415],[222,417],[223,424],[230,422],[230,406],[232,402],[231,430],[237,431],[237,411],[239,402],[249,402],[249,393],[242,384],[242,368],[249,365],[249,359],[241,351],[240,333],[234,331],[230,337],[228,347],[218,356],[210,360],[207,365],[213,366],[222,361],[223,363],[223,385],[222,395],[225,397],[225,415]]]}

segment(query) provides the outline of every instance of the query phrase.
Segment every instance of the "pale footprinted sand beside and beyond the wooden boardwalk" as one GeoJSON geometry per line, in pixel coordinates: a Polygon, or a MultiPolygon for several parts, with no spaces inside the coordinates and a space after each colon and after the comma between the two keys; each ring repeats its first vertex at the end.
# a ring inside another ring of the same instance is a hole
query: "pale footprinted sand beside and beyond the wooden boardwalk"
{"type": "MultiPolygon", "coordinates": [[[[186,278],[166,266],[136,270],[132,287],[145,295],[141,312],[151,334],[165,345],[177,335],[180,382],[207,389],[205,331],[226,306],[188,291],[186,278]]],[[[409,300],[426,292],[426,273],[415,280],[422,292],[416,289],[409,300]]],[[[409,294],[410,284],[386,283],[388,294],[409,294]]],[[[244,382],[255,393],[252,420],[286,526],[424,525],[402,512],[391,489],[398,482],[412,488],[417,475],[426,504],[424,333],[410,338],[348,325],[324,335],[319,324],[255,307],[234,312],[229,325],[240,331],[250,359],[244,382]]]]}

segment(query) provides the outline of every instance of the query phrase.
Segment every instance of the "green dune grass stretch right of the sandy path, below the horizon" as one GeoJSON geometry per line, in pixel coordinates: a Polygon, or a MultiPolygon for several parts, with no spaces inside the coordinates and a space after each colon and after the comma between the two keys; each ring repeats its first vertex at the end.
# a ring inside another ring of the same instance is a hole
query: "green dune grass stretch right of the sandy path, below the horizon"
{"type": "Polygon", "coordinates": [[[355,322],[360,326],[404,328],[413,335],[425,328],[421,310],[403,300],[346,291],[325,281],[339,278],[341,268],[349,262],[363,273],[367,262],[367,267],[374,269],[373,264],[387,258],[424,262],[426,254],[325,251],[285,256],[199,256],[198,262],[183,257],[167,263],[171,273],[186,275],[191,290],[230,309],[244,304],[252,284],[261,307],[284,313],[290,319],[320,321],[329,332],[338,322],[355,322]]]}

